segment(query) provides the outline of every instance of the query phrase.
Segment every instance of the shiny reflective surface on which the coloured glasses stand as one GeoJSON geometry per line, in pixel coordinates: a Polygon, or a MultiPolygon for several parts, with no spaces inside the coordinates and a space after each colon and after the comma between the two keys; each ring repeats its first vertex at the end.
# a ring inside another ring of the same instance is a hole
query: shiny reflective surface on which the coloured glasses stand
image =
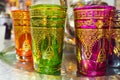
{"type": "MultiPolygon", "coordinates": [[[[8,41],[6,45],[11,44],[8,41]]],[[[64,56],[61,76],[42,75],[34,71],[31,62],[19,62],[16,59],[14,45],[0,52],[0,80],[120,80],[120,75],[114,74],[113,69],[109,69],[107,76],[84,77],[76,75],[75,46],[66,44],[64,46],[64,56]]]]}

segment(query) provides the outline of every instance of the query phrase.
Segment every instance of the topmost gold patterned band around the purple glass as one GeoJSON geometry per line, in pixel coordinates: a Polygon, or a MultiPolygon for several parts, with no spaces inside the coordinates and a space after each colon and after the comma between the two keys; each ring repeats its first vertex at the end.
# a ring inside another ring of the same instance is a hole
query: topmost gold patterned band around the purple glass
{"type": "MultiPolygon", "coordinates": [[[[79,19],[104,19],[113,17],[114,10],[110,11],[111,14],[105,14],[105,9],[85,9],[85,10],[75,10],[75,20],[79,19]]],[[[107,13],[107,12],[106,12],[107,13]]]]}

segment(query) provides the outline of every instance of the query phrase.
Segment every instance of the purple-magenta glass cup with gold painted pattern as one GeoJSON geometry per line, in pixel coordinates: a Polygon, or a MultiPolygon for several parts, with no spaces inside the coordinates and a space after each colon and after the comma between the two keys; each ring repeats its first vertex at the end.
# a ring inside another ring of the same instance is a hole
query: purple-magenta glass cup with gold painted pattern
{"type": "Polygon", "coordinates": [[[74,9],[78,75],[106,74],[114,9],[100,5],[74,9]]]}

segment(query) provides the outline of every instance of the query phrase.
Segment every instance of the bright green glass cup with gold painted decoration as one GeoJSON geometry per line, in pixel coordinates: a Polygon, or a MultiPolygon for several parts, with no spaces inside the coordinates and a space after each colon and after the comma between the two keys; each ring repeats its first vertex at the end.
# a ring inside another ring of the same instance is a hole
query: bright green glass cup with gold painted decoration
{"type": "Polygon", "coordinates": [[[41,74],[59,75],[66,7],[37,4],[30,12],[34,68],[41,74]]]}

